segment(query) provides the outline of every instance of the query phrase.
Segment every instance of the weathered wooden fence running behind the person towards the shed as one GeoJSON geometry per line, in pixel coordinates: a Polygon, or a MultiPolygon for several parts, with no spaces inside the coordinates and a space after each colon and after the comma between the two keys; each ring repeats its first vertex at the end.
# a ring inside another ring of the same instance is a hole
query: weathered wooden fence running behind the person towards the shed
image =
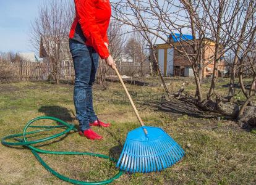
{"type": "MultiPolygon", "coordinates": [[[[120,73],[127,76],[150,74],[150,64],[117,65],[120,73]]],[[[103,69],[100,65],[99,70],[103,69]]],[[[72,62],[61,62],[58,68],[60,80],[74,80],[74,67],[72,62]]],[[[114,71],[105,70],[106,76],[115,75],[114,71]]],[[[14,81],[40,81],[51,79],[51,67],[44,62],[1,62],[0,61],[0,83],[9,83],[14,81]]]]}

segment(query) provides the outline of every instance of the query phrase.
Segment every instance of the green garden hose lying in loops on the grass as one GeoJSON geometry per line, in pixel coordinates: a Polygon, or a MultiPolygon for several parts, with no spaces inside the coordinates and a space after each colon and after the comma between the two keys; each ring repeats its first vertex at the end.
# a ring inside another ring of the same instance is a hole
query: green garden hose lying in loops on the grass
{"type": "Polygon", "coordinates": [[[61,152],[61,151],[49,151],[49,150],[41,150],[38,149],[36,147],[31,146],[32,144],[38,144],[40,142],[45,142],[45,141],[49,141],[51,139],[54,138],[58,138],[60,136],[63,136],[64,134],[69,133],[71,130],[77,131],[76,128],[74,128],[74,125],[70,125],[68,123],[66,123],[65,121],[59,120],[58,118],[54,118],[54,117],[38,117],[35,118],[33,120],[30,120],[27,125],[25,125],[25,128],[23,129],[23,133],[20,134],[12,134],[9,136],[6,136],[4,138],[2,138],[1,142],[3,145],[5,146],[25,146],[28,147],[32,153],[35,155],[35,157],[38,159],[38,161],[41,163],[41,165],[43,165],[43,167],[46,168],[46,170],[48,170],[50,173],[52,173],[53,175],[55,175],[56,177],[58,177],[59,179],[62,179],[63,181],[67,181],[69,183],[72,184],[108,184],[108,183],[112,183],[114,181],[114,179],[119,178],[122,175],[122,171],[119,171],[119,173],[117,173],[117,175],[115,175],[113,178],[107,179],[105,181],[99,181],[99,182],[85,182],[85,181],[78,181],[76,179],[70,179],[66,176],[61,175],[60,173],[58,173],[57,171],[54,171],[53,168],[49,167],[44,161],[43,159],[40,157],[39,154],[56,154],[56,155],[90,155],[93,157],[100,157],[100,158],[105,158],[105,159],[109,159],[112,160],[114,162],[116,162],[116,160],[114,158],[110,158],[108,155],[103,155],[103,154],[94,154],[94,153],[90,153],[90,152],[61,152]],[[31,124],[34,123],[37,120],[53,120],[53,121],[57,121],[58,123],[61,123],[62,125],[56,125],[56,126],[32,126],[31,124]],[[40,130],[36,130],[36,131],[31,131],[27,133],[27,129],[28,128],[40,128],[40,130]],[[61,133],[58,134],[54,134],[52,136],[49,136],[47,138],[43,138],[43,139],[38,139],[35,141],[27,141],[27,135],[30,134],[35,134],[35,133],[40,133],[43,131],[51,131],[54,130],[56,128],[66,128],[66,130],[62,131],[61,133]],[[17,137],[23,136],[23,139],[19,139],[17,137]],[[7,139],[15,139],[17,142],[7,142],[7,139]]]}

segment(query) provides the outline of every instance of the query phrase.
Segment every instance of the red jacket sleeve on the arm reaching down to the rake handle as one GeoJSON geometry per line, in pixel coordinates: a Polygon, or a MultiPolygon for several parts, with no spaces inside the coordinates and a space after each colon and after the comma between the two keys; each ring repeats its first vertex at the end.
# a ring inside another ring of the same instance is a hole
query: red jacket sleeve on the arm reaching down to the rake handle
{"type": "Polygon", "coordinates": [[[81,25],[83,35],[92,43],[93,48],[100,55],[101,59],[109,56],[108,48],[104,44],[100,29],[95,19],[95,1],[96,0],[76,0],[75,10],[81,25]]]}

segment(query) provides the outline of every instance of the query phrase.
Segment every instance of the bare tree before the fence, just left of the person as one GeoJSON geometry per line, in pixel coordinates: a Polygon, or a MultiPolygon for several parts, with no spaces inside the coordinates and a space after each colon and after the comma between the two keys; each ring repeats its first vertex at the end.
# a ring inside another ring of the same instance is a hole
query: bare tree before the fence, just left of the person
{"type": "Polygon", "coordinates": [[[44,1],[32,23],[30,41],[41,57],[48,58],[56,84],[59,84],[61,61],[71,61],[68,36],[73,15],[73,4],[69,1],[44,1]]]}

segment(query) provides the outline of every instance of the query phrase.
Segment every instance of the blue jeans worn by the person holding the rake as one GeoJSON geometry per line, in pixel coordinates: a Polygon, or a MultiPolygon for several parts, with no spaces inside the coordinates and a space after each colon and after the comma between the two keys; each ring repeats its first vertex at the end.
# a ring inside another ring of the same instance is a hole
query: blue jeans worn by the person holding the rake
{"type": "Polygon", "coordinates": [[[75,68],[74,104],[81,131],[90,128],[89,123],[97,120],[93,110],[92,85],[95,81],[99,55],[93,47],[72,39],[69,48],[75,68]]]}

